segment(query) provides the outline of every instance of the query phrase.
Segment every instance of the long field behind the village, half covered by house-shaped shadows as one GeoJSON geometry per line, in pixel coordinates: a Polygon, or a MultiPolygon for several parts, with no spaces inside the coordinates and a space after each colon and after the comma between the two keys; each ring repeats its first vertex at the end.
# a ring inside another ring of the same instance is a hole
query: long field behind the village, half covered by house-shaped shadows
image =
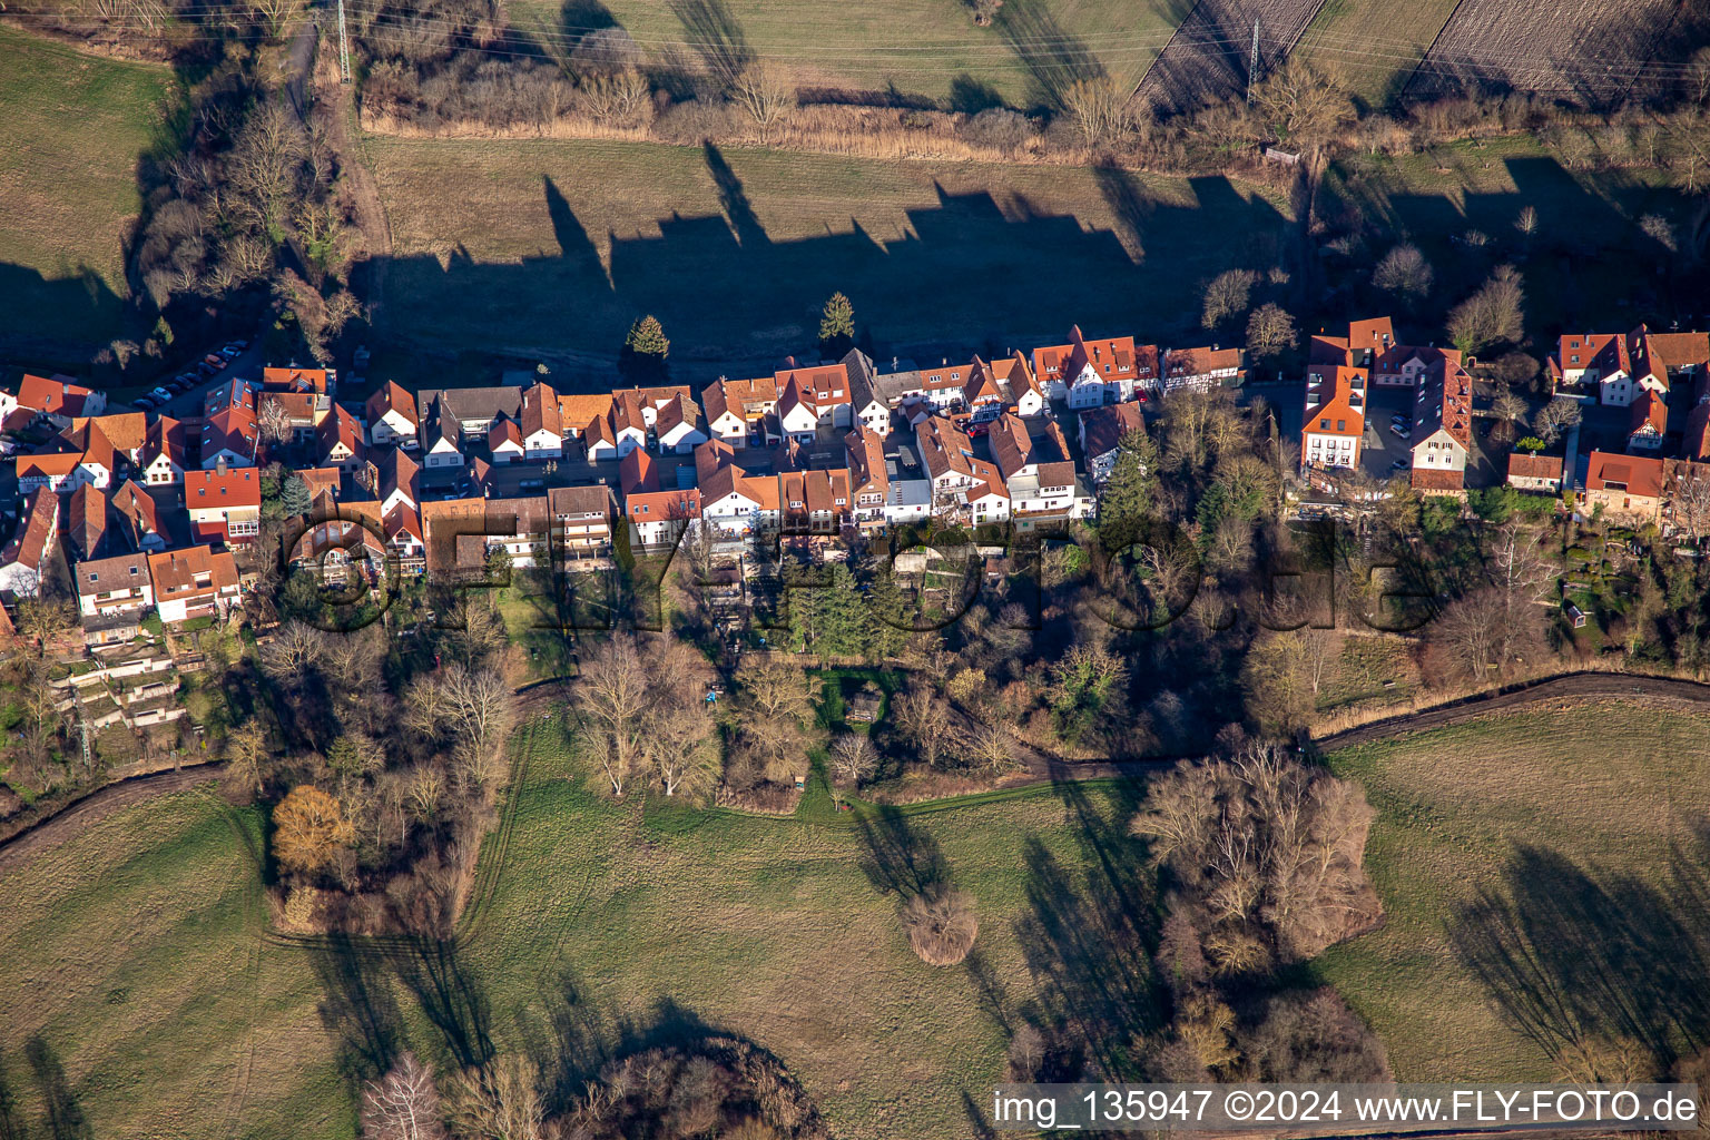
{"type": "Polygon", "coordinates": [[[392,332],[520,356],[614,354],[655,313],[674,361],[768,361],[811,342],[840,289],[881,350],[1002,350],[1072,323],[1187,333],[1202,280],[1274,258],[1286,226],[1224,178],[626,142],[368,152],[397,246],[392,332]]]}

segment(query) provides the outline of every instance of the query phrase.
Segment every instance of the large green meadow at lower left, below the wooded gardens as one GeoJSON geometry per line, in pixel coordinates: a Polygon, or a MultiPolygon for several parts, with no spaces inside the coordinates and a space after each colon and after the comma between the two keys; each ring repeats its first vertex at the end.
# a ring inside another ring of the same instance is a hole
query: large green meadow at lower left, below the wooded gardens
{"type": "MultiPolygon", "coordinates": [[[[556,725],[523,733],[515,826],[482,849],[491,892],[455,959],[265,938],[258,819],[200,795],[111,817],[9,875],[0,1068],[24,1123],[58,1089],[103,1138],[344,1138],[342,1073],[376,1039],[436,1065],[491,1041],[575,1072],[705,1024],[783,1058],[840,1137],[966,1135],[963,1090],[983,1097],[1004,1068],[999,1020],[1064,996],[1035,981],[1017,923],[1110,896],[1088,879],[1089,841],[1135,855],[1100,788],[879,826],[935,848],[978,901],[978,966],[934,969],[862,867],[896,849],[864,841],[852,815],[612,805],[556,725]],[[48,1065],[26,1060],[36,1034],[48,1065]]],[[[1058,949],[1043,937],[1026,952],[1058,949]]]]}

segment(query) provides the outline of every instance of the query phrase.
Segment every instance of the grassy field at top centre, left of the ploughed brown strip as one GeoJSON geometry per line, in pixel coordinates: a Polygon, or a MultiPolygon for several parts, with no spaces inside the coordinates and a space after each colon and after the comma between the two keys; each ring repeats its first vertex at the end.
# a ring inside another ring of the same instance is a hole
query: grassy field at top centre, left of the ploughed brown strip
{"type": "Polygon", "coordinates": [[[898,92],[963,103],[995,96],[1041,101],[1040,82],[1096,60],[1137,80],[1192,3],[1185,0],[1009,0],[992,27],[975,27],[963,0],[522,0],[511,22],[542,46],[616,22],[660,63],[698,63],[711,43],[790,68],[804,87],[898,92]],[[982,92],[980,89],[988,89],[982,92]]]}

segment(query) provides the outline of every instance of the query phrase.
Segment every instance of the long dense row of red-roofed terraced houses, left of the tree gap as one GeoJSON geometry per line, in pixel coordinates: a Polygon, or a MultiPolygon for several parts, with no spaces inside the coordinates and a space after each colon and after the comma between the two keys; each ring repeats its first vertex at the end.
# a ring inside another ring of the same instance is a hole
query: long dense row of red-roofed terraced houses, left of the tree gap
{"type": "Polygon", "coordinates": [[[332,369],[267,367],[212,388],[185,420],[27,376],[0,393],[9,439],[26,441],[0,593],[38,590],[62,547],[91,641],[133,634],[150,608],[227,614],[243,590],[233,552],[260,535],[260,470],[274,461],[308,492],[308,514],[287,520],[296,561],[332,550],[434,573],[498,547],[520,566],[544,554],[598,566],[619,528],[641,550],[691,526],[725,549],[778,533],[834,550],[929,518],[1055,526],[1093,514],[1122,436],[1144,431],[1146,400],[1238,383],[1241,366],[1238,349],[1074,328],[1065,344],[937,366],[858,350],[792,359],[699,398],[687,386],[561,393],[530,376],[383,383],[356,403],[332,369]]]}

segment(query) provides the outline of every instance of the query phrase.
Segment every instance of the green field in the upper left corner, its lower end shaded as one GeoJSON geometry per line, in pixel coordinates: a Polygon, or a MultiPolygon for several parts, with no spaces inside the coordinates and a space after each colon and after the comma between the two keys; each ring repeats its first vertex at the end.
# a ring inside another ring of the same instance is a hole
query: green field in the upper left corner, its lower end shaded
{"type": "Polygon", "coordinates": [[[176,84],[0,27],[0,345],[87,350],[121,332],[137,161],[176,84]]]}

